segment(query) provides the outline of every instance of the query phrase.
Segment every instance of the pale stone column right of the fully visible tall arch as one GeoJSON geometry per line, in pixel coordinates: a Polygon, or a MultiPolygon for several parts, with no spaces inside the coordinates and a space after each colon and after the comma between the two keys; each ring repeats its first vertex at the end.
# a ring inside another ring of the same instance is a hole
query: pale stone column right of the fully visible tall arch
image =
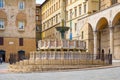
{"type": "Polygon", "coordinates": [[[113,27],[110,27],[110,54],[114,54],[114,34],[113,34],[113,27]]]}

